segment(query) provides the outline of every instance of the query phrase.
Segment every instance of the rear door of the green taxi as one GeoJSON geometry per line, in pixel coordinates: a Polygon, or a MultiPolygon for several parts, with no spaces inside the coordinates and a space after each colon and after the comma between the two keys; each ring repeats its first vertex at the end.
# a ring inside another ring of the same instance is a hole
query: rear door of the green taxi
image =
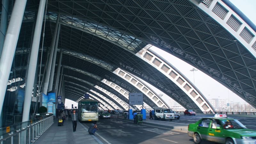
{"type": "Polygon", "coordinates": [[[208,140],[209,136],[209,126],[211,123],[211,119],[205,118],[197,126],[197,132],[200,134],[201,138],[204,140],[208,140]]]}

